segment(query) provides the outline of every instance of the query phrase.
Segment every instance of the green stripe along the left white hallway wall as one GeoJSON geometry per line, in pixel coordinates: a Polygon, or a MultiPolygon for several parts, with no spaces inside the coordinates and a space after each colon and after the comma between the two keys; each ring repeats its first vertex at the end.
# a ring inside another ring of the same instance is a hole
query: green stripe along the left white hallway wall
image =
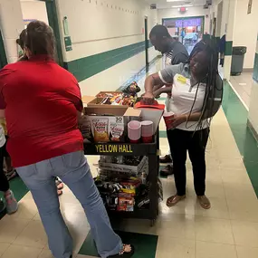
{"type": "MultiPolygon", "coordinates": [[[[151,46],[149,43],[148,47],[151,46]]],[[[143,51],[145,51],[145,42],[133,43],[71,62],[64,62],[64,67],[72,72],[78,81],[83,81],[143,51]]]]}

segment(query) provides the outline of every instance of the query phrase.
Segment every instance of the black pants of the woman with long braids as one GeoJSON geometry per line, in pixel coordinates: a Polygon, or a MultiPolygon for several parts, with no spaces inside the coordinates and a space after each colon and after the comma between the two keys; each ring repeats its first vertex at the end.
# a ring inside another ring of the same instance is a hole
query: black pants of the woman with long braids
{"type": "Polygon", "coordinates": [[[209,129],[196,132],[181,129],[167,130],[178,196],[186,195],[187,150],[193,166],[196,195],[205,195],[205,148],[209,131],[209,129]]]}

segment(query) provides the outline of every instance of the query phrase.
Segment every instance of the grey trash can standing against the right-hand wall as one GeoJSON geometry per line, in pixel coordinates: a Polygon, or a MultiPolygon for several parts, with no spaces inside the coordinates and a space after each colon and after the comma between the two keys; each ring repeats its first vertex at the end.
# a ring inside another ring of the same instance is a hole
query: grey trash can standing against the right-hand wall
{"type": "Polygon", "coordinates": [[[234,46],[231,61],[231,75],[240,75],[243,72],[245,46],[234,46]]]}

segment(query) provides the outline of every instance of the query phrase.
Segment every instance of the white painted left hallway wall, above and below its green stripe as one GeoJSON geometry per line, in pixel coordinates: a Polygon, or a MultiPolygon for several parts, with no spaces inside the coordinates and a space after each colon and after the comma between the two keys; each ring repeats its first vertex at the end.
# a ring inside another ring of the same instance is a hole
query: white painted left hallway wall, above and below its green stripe
{"type": "MultiPolygon", "coordinates": [[[[144,41],[144,17],[148,16],[148,30],[157,24],[157,11],[139,0],[81,1],[57,0],[60,24],[68,18],[72,38],[72,51],[65,52],[65,62],[97,53],[110,51],[132,43],[144,41]],[[90,3],[91,2],[91,3],[90,3]],[[97,3],[97,4],[96,4],[97,3]]],[[[61,25],[62,39],[64,37],[61,25]]],[[[149,59],[156,53],[149,50],[149,59]]],[[[110,69],[81,81],[82,94],[96,94],[98,91],[113,91],[129,79],[133,73],[145,66],[145,55],[139,53],[110,69]]]]}

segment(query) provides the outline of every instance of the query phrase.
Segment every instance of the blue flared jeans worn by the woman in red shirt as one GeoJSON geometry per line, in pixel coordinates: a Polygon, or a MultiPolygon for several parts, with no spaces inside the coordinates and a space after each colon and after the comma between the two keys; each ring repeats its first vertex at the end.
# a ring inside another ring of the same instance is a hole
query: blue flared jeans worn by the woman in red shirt
{"type": "Polygon", "coordinates": [[[121,251],[121,239],[111,228],[82,151],[16,169],[32,192],[55,258],[69,258],[72,255],[72,237],[62,218],[54,177],[60,177],[80,201],[100,256],[106,258],[121,251]]]}

